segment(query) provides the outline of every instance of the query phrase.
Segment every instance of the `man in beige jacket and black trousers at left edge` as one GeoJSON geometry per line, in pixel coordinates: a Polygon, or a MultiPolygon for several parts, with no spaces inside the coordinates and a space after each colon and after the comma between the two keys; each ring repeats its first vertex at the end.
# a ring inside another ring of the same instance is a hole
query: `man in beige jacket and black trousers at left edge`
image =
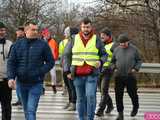
{"type": "Polygon", "coordinates": [[[7,57],[12,42],[6,40],[6,26],[0,22],[0,103],[2,108],[2,120],[11,120],[11,89],[7,81],[7,57]]]}

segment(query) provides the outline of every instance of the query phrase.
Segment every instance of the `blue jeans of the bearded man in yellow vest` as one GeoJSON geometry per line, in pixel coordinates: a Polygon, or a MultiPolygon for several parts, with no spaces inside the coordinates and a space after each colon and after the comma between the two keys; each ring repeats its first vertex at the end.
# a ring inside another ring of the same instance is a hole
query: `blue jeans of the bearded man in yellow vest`
{"type": "Polygon", "coordinates": [[[79,120],[93,120],[96,109],[96,89],[98,76],[75,77],[79,120]]]}

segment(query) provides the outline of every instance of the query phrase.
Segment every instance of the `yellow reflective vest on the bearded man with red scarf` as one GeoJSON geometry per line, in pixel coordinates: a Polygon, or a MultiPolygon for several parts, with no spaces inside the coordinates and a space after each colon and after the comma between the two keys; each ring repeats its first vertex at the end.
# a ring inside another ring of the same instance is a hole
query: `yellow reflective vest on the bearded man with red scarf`
{"type": "Polygon", "coordinates": [[[84,46],[79,34],[77,34],[72,54],[72,65],[82,66],[86,62],[88,65],[96,66],[96,61],[99,61],[98,49],[96,48],[96,35],[93,35],[86,46],[84,46]]]}

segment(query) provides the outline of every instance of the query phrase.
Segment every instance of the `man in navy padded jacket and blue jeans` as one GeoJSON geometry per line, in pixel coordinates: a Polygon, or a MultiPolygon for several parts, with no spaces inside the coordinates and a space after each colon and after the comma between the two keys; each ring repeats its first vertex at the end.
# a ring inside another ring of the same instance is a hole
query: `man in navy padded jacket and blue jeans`
{"type": "Polygon", "coordinates": [[[14,87],[17,77],[25,119],[36,120],[44,75],[54,66],[54,59],[48,44],[38,38],[38,26],[34,22],[25,24],[25,34],[25,38],[12,46],[7,63],[8,85],[14,87]]]}

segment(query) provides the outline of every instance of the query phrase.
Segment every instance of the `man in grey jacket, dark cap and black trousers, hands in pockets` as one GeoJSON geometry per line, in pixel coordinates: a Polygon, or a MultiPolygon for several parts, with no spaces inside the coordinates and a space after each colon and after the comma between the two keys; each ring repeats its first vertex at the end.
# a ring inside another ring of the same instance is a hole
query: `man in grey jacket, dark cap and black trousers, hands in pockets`
{"type": "Polygon", "coordinates": [[[123,120],[123,94],[125,87],[133,105],[130,116],[134,117],[138,112],[139,101],[135,72],[139,71],[142,61],[137,47],[130,43],[126,33],[120,34],[118,41],[119,46],[113,52],[112,63],[115,72],[116,106],[119,113],[116,120],[123,120]]]}

